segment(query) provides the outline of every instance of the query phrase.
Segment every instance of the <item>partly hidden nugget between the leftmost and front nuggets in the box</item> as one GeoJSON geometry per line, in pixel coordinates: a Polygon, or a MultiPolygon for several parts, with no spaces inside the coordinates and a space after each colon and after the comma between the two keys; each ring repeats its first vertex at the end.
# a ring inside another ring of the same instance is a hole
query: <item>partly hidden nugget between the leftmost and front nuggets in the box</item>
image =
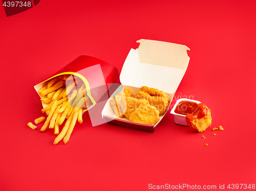
{"type": "MultiPolygon", "coordinates": [[[[149,103],[148,103],[148,101],[146,101],[145,99],[141,99],[141,100],[139,100],[139,99],[135,99],[135,98],[131,98],[131,97],[125,97],[126,98],[126,111],[124,111],[124,115],[127,117],[127,118],[129,118],[129,120],[130,120],[130,116],[131,116],[131,114],[132,114],[132,112],[136,109],[136,108],[138,108],[139,106],[141,106],[141,105],[150,105],[149,103]]],[[[123,109],[123,108],[122,108],[123,109]]]]}

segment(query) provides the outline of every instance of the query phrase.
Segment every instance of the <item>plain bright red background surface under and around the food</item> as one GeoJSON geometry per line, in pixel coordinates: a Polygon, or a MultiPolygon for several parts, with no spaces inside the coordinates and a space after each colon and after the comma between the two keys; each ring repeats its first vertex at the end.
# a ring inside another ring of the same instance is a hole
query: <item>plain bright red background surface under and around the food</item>
{"type": "Polygon", "coordinates": [[[44,0],[6,17],[1,6],[0,190],[255,184],[255,8],[255,1],[229,0],[44,0]],[[170,113],[154,133],[92,127],[86,113],[68,144],[53,146],[53,131],[27,127],[42,115],[35,84],[79,55],[104,60],[120,73],[141,38],[191,49],[172,105],[185,96],[205,103],[211,128],[223,131],[197,133],[174,124],[170,113]]]}

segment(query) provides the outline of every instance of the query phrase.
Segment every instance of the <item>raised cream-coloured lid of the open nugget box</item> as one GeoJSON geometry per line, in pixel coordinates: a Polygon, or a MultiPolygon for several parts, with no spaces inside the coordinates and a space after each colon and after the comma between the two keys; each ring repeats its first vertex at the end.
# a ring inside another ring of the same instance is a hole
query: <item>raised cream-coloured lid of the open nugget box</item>
{"type": "Polygon", "coordinates": [[[174,93],[188,66],[187,46],[140,39],[123,64],[120,82],[134,87],[148,86],[174,93]]]}

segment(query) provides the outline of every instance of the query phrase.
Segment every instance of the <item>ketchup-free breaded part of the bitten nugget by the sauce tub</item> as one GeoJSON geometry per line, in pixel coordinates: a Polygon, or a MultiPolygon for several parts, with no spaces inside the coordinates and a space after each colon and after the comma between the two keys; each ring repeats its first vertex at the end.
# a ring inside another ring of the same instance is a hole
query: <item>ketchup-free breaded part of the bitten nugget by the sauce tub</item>
{"type": "Polygon", "coordinates": [[[198,132],[202,133],[211,125],[210,109],[207,108],[207,113],[203,118],[196,118],[195,120],[191,120],[186,117],[186,121],[189,127],[195,128],[198,132]]]}

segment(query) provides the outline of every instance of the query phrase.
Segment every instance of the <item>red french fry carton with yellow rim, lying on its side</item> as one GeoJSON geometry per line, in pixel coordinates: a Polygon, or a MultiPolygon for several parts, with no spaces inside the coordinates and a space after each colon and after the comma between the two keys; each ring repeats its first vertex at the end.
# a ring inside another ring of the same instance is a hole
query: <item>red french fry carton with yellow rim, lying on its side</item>
{"type": "MultiPolygon", "coordinates": [[[[96,105],[118,77],[117,68],[111,64],[91,56],[79,56],[61,68],[52,77],[35,85],[34,88],[42,100],[48,98],[50,93],[47,90],[40,92],[41,88],[47,86],[52,80],[55,81],[55,85],[62,83],[61,90],[63,91],[63,95],[58,100],[68,100],[70,105],[73,104],[73,107],[78,107],[78,101],[84,98],[84,102],[79,102],[82,103],[79,107],[83,107],[84,112],[96,105]]],[[[44,108],[48,104],[42,102],[44,108]]]]}

